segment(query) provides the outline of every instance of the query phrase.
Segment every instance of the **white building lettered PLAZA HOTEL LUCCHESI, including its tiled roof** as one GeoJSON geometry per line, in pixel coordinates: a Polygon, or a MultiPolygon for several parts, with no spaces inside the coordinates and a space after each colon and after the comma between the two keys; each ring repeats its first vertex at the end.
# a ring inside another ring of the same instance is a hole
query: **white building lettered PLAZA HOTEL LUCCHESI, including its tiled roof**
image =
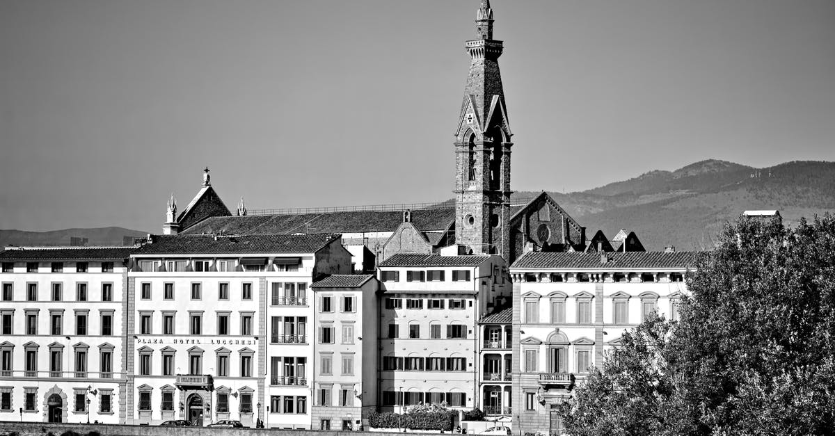
{"type": "Polygon", "coordinates": [[[316,276],[350,271],[340,241],[332,234],[154,236],[134,251],[126,298],[133,339],[128,423],[309,426],[306,289],[316,276]],[[301,377],[268,370],[268,355],[292,357],[301,377]],[[275,395],[292,396],[292,411],[273,413],[267,401],[275,395]]]}

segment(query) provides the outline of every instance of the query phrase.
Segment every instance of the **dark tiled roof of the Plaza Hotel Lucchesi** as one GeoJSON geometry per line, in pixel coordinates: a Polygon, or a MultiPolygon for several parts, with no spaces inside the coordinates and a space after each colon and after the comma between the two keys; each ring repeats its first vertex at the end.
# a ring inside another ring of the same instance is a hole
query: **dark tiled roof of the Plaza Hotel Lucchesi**
{"type": "Polygon", "coordinates": [[[162,254],[315,253],[340,237],[338,234],[331,233],[254,236],[154,236],[152,243],[140,246],[133,254],[134,256],[142,256],[162,254]]]}

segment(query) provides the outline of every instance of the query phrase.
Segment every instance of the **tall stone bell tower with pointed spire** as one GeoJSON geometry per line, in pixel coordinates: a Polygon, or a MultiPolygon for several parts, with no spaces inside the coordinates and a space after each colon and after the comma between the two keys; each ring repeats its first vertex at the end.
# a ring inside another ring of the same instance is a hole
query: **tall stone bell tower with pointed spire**
{"type": "Polygon", "coordinates": [[[467,41],[470,68],[455,132],[455,236],[474,254],[509,256],[510,124],[493,39],[493,9],[481,0],[476,39],[467,41]]]}

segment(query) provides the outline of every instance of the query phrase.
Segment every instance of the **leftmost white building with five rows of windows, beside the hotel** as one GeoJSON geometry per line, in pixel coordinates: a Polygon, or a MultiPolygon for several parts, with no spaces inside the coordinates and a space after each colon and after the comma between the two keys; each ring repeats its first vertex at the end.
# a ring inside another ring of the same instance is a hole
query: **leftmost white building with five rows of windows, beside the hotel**
{"type": "Polygon", "coordinates": [[[0,252],[0,420],[124,423],[133,247],[0,252]]]}

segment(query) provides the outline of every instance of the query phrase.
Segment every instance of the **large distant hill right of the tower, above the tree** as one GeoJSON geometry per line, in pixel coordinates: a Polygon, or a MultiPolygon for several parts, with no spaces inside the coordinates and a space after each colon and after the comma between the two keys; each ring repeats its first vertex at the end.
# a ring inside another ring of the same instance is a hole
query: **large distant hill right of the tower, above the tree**
{"type": "Polygon", "coordinates": [[[758,169],[703,160],[592,190],[550,194],[589,235],[602,230],[611,237],[626,228],[649,250],[668,245],[698,250],[710,247],[723,223],[743,210],[777,209],[789,224],[835,211],[835,162],[794,161],[758,169]]]}

